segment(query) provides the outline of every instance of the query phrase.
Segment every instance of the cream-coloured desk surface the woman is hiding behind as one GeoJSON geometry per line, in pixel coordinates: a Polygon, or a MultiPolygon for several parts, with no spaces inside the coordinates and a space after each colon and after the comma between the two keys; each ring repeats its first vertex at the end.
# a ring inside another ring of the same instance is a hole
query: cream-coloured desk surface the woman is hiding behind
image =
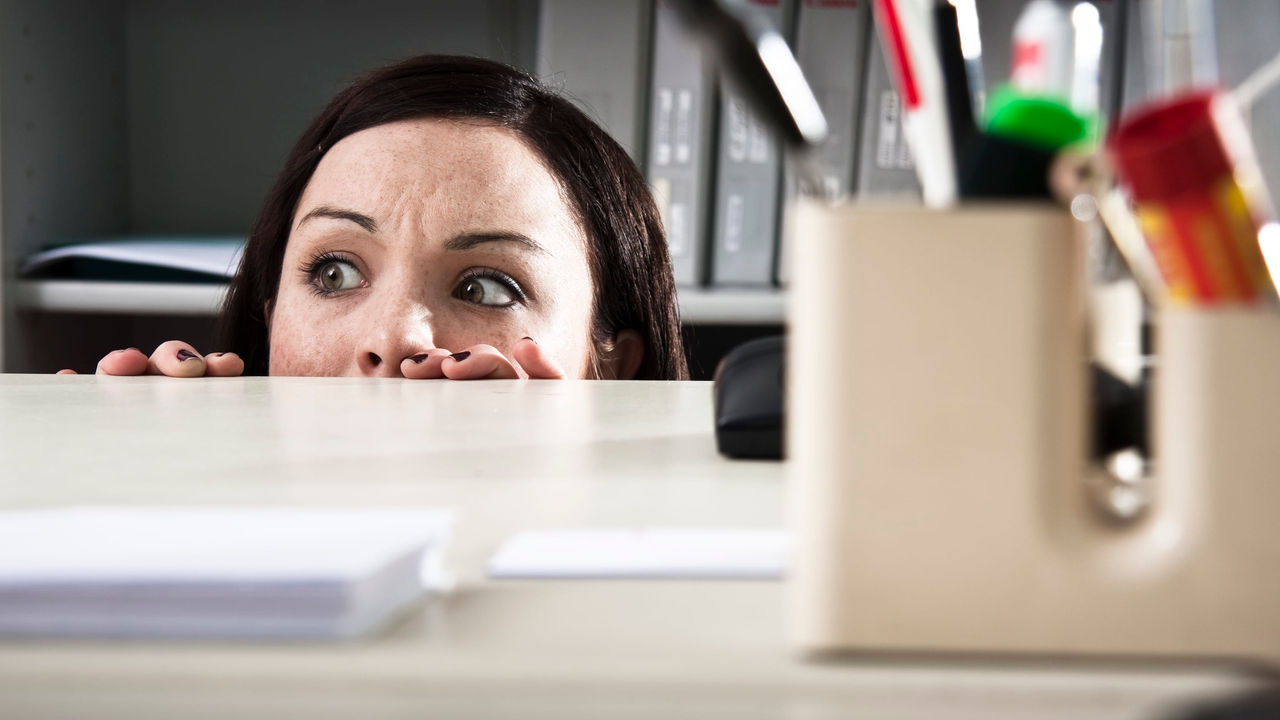
{"type": "Polygon", "coordinates": [[[1161,717],[1225,669],[795,659],[765,582],[492,582],[509,533],[778,527],[707,383],[0,375],[0,506],[456,507],[460,588],[352,643],[0,643],[0,717],[1161,717]]]}

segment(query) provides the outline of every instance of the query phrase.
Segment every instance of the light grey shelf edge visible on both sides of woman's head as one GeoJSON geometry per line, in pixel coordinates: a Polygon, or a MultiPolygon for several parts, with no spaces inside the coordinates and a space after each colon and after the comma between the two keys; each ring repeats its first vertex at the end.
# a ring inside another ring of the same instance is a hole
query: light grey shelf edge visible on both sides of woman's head
{"type": "MultiPolygon", "coordinates": [[[[23,310],[118,315],[216,315],[225,284],[97,281],[19,281],[23,310]]],[[[774,325],[786,320],[780,290],[681,290],[680,315],[689,324],[774,325]]]]}

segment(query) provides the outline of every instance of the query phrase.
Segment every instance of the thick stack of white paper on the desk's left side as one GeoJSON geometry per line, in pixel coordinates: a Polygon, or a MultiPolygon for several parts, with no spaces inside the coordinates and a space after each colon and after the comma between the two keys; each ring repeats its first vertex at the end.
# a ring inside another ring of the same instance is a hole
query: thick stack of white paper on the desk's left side
{"type": "Polygon", "coordinates": [[[0,512],[0,635],[348,638],[445,589],[447,510],[0,512]]]}

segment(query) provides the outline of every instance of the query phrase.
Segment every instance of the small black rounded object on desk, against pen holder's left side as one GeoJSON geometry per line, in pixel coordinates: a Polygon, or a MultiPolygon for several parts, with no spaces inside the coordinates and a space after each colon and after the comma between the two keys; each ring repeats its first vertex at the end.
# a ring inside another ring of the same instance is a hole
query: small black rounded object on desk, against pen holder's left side
{"type": "Polygon", "coordinates": [[[728,457],[782,460],[783,336],[745,342],[716,368],[716,448],[728,457]]]}

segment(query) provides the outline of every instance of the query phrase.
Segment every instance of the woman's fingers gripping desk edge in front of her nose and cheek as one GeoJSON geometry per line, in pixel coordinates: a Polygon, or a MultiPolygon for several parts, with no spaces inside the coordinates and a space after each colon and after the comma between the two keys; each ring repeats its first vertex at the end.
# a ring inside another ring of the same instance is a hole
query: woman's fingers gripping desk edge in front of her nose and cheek
{"type": "Polygon", "coordinates": [[[558,380],[559,369],[532,338],[524,338],[511,348],[511,357],[490,345],[475,345],[462,352],[435,347],[406,357],[401,373],[406,378],[451,380],[558,380]]]}

